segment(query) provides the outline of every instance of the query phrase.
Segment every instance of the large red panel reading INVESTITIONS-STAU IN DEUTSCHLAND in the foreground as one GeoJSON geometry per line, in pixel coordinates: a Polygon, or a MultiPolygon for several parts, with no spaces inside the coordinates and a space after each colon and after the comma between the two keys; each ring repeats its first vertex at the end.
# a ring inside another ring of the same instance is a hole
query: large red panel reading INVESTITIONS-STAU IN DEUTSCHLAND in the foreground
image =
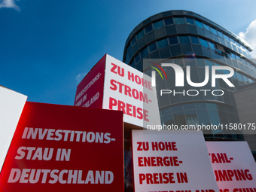
{"type": "Polygon", "coordinates": [[[0,191],[123,191],[123,113],[26,102],[0,191]]]}

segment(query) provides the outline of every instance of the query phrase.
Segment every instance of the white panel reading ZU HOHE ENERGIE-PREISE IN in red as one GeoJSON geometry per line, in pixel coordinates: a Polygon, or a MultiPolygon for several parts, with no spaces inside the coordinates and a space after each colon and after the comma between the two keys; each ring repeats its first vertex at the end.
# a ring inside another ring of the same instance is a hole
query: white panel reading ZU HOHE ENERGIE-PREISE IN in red
{"type": "Polygon", "coordinates": [[[133,130],[135,191],[218,192],[203,134],[133,130]]]}

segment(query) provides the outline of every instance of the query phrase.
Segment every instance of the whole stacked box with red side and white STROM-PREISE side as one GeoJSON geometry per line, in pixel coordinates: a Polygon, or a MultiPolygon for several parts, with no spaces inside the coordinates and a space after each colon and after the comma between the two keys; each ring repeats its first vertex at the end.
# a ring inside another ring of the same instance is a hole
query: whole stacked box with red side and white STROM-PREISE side
{"type": "Polygon", "coordinates": [[[123,121],[136,126],[146,128],[148,124],[160,124],[151,78],[109,55],[105,55],[78,85],[75,105],[123,111],[123,121]],[[99,80],[90,86],[97,75],[99,80]]]}

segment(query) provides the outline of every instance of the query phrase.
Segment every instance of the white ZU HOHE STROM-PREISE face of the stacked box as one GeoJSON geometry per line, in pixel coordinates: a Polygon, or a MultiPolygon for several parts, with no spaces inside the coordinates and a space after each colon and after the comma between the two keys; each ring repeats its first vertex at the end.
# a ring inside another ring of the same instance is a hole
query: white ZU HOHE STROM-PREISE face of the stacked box
{"type": "Polygon", "coordinates": [[[136,126],[160,124],[151,78],[109,55],[105,62],[102,108],[123,111],[123,121],[136,126]]]}

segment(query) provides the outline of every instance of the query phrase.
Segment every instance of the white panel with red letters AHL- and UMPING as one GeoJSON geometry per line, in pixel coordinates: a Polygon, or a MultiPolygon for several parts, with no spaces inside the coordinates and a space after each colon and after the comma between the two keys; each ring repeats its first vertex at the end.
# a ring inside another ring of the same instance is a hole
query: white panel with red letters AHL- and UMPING
{"type": "Polygon", "coordinates": [[[256,191],[256,163],[247,142],[206,142],[220,192],[256,191]]]}

